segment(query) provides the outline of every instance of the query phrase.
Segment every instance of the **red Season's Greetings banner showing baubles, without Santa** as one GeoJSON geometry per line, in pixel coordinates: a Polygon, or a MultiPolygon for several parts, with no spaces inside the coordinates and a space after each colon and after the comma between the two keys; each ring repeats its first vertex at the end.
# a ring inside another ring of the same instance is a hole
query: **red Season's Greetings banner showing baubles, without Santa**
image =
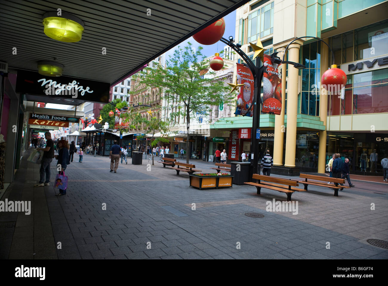
{"type": "Polygon", "coordinates": [[[263,109],[264,113],[279,115],[282,111],[282,80],[278,65],[264,54],[263,109]]]}

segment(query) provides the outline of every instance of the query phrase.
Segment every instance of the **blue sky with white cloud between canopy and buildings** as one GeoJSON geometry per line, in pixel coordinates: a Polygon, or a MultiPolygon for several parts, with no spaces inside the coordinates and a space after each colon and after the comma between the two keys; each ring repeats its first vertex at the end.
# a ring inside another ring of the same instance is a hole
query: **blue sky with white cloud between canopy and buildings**
{"type": "MultiPolygon", "coordinates": [[[[236,11],[230,12],[227,16],[224,17],[225,20],[225,33],[223,34],[223,37],[225,39],[228,39],[229,36],[233,36],[233,39],[235,39],[236,35],[236,11]]],[[[193,37],[190,37],[189,39],[183,41],[178,46],[184,47],[187,45],[187,42],[191,42],[193,47],[197,48],[198,46],[202,46],[202,54],[204,56],[208,57],[211,55],[214,55],[214,53],[218,53],[219,51],[223,50],[223,47],[226,46],[223,42],[218,41],[217,43],[213,45],[200,45],[196,40],[193,39],[193,37]]],[[[169,59],[169,55],[172,55],[177,49],[178,46],[173,47],[170,49],[170,51],[166,52],[166,60],[169,59]]],[[[54,109],[68,109],[70,105],[63,105],[63,104],[47,104],[47,108],[54,108],[54,109]]]]}

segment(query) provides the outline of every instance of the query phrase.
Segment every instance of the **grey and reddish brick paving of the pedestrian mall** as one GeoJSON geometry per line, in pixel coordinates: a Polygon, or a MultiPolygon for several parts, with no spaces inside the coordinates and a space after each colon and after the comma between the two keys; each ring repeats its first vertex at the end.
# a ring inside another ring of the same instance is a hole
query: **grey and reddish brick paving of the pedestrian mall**
{"type": "MultiPolygon", "coordinates": [[[[32,211],[29,216],[0,213],[0,225],[15,222],[1,229],[0,258],[388,258],[386,249],[366,242],[388,240],[388,186],[383,182],[355,181],[356,187],[340,191],[339,197],[309,186],[307,192],[293,193],[293,201],[298,201],[298,214],[293,215],[265,210],[273,198],[286,200],[284,193],[262,189],[262,195],[256,195],[255,187],[237,185],[198,190],[189,187],[188,174],[177,176],[156,161],[149,172],[147,159],[132,165],[129,158],[128,165],[119,164],[113,173],[108,157],[85,154],[82,163],[74,158],[66,170],[67,195],[56,197],[53,186],[33,187],[39,165],[23,160],[2,200],[31,200],[32,211]],[[174,214],[171,207],[187,216],[174,214]],[[249,218],[246,212],[264,217],[249,218]]],[[[190,163],[203,173],[213,172],[211,163],[190,163]]]]}

